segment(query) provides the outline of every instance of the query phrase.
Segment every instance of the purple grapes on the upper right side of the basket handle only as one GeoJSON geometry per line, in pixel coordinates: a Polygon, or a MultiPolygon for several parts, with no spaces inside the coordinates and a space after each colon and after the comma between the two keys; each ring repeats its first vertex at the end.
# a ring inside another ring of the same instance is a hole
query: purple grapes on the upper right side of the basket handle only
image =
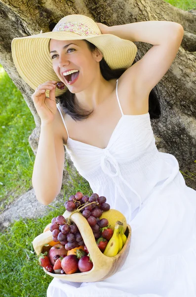
{"type": "Polygon", "coordinates": [[[87,219],[94,237],[99,238],[101,236],[100,228],[107,227],[109,224],[107,219],[99,219],[103,211],[110,209],[110,204],[106,203],[106,197],[99,197],[96,193],[88,197],[87,195],[83,196],[81,192],[77,192],[76,195],[70,196],[68,201],[65,202],[65,208],[68,211],[74,211],[77,208],[79,210],[80,207],[82,207],[80,213],[87,219]],[[91,202],[95,203],[89,204],[91,202]]]}

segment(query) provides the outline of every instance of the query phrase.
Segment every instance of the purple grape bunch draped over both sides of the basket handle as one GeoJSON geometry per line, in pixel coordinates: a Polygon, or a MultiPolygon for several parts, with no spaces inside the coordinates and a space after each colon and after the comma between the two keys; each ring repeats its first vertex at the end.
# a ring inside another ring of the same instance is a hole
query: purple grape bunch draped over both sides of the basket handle
{"type": "MultiPolygon", "coordinates": [[[[98,194],[94,193],[88,197],[87,195],[83,196],[81,192],[77,192],[76,195],[69,197],[69,200],[65,202],[65,207],[68,211],[74,211],[78,208],[78,212],[82,213],[86,218],[96,239],[101,236],[100,228],[107,227],[109,224],[107,219],[99,219],[103,211],[110,209],[110,205],[106,203],[104,196],[99,197],[98,194]],[[89,204],[91,202],[95,203],[89,204]],[[82,207],[81,210],[80,207],[82,207]]],[[[52,219],[50,231],[52,232],[52,240],[65,245],[67,250],[84,246],[77,225],[73,221],[65,219],[62,215],[52,219]]]]}

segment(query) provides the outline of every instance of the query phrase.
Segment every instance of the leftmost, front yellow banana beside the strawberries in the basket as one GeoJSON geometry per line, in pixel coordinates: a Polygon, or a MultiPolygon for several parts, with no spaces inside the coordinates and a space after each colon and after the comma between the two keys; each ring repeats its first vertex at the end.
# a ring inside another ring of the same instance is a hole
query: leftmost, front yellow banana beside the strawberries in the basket
{"type": "Polygon", "coordinates": [[[113,234],[112,238],[109,240],[109,242],[104,250],[105,256],[113,257],[118,254],[118,249],[119,249],[118,233],[119,233],[119,224],[117,221],[115,230],[114,230],[114,234],[113,234]]]}

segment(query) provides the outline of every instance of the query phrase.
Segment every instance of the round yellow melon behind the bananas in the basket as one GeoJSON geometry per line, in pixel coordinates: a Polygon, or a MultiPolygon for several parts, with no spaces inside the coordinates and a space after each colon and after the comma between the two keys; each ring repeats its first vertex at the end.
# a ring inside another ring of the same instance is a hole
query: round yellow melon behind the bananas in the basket
{"type": "Polygon", "coordinates": [[[123,233],[126,231],[126,218],[125,216],[116,209],[110,209],[104,211],[100,219],[106,218],[109,221],[110,227],[114,230],[115,224],[117,221],[120,221],[123,224],[123,233]]]}

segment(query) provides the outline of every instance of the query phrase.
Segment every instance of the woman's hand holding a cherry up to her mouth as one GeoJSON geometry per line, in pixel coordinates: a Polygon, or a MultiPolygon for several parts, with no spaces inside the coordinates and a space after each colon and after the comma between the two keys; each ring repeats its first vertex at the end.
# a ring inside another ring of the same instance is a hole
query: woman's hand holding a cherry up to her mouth
{"type": "Polygon", "coordinates": [[[39,85],[32,95],[32,99],[41,119],[41,123],[51,123],[54,120],[54,115],[57,111],[55,99],[55,83],[55,81],[48,81],[39,85]],[[46,90],[49,90],[49,98],[45,96],[46,90]]]}

